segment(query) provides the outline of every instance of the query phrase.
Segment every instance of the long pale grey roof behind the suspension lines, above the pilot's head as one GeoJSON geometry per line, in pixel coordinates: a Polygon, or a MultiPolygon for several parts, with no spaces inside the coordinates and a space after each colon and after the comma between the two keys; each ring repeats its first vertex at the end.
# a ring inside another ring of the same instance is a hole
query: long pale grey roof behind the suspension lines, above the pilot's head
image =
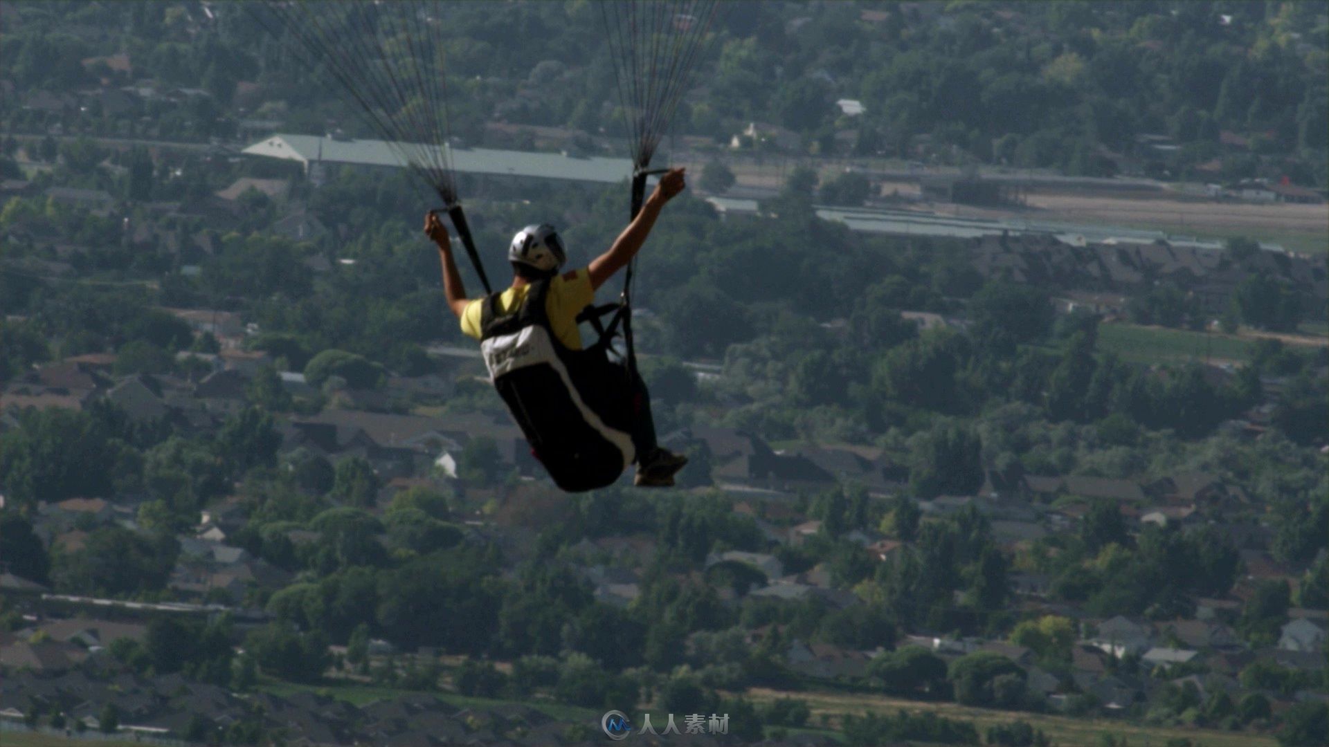
{"type": "MultiPolygon", "coordinates": [[[[300,163],[324,161],[360,166],[405,166],[405,161],[396,153],[392,144],[383,140],[334,140],[310,134],[275,134],[246,148],[243,153],[299,161],[300,163]]],[[[452,169],[461,174],[618,183],[633,173],[633,163],[627,158],[601,156],[570,157],[562,153],[453,146],[447,146],[447,154],[452,169]]]]}

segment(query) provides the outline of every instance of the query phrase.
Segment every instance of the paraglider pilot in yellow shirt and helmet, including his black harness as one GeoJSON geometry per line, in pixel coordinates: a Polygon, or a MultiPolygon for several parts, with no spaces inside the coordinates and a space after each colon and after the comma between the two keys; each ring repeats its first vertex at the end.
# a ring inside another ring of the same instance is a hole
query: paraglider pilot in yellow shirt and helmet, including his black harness
{"type": "Polygon", "coordinates": [[[664,205],[684,187],[683,169],[666,171],[631,223],[587,267],[562,272],[567,255],[553,226],[526,226],[508,250],[508,288],[468,299],[452,242],[437,214],[424,233],[439,246],[448,307],[461,331],[480,340],[494,387],[532,452],[565,490],[614,482],[637,464],[635,485],[670,486],[687,457],[655,443],[650,401],[635,366],[607,356],[610,334],[582,347],[578,314],[595,290],[629,265],[664,205]]]}

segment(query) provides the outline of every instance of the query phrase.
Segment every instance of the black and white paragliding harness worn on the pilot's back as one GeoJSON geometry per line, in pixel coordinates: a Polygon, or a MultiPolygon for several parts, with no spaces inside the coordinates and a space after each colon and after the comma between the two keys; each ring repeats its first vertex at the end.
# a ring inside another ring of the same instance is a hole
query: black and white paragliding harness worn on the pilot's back
{"type": "Polygon", "coordinates": [[[554,484],[569,492],[603,488],[637,457],[623,367],[607,356],[618,319],[585,350],[563,346],[549,324],[549,283],[532,283],[510,311],[502,311],[501,292],[488,295],[480,350],[494,388],[554,484]]]}

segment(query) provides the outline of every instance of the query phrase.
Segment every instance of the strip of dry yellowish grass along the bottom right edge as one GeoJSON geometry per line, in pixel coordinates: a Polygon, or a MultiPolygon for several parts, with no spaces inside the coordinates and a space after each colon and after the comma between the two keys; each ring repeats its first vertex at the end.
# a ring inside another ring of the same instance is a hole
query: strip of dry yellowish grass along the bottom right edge
{"type": "Polygon", "coordinates": [[[1042,714],[1019,714],[1010,711],[993,711],[987,708],[971,708],[957,706],[956,703],[924,703],[917,700],[900,700],[881,695],[855,694],[855,693],[783,693],[776,690],[754,689],[747,693],[755,702],[775,700],[776,698],[799,698],[807,700],[812,718],[808,723],[821,723],[823,715],[831,716],[831,723],[839,723],[844,715],[863,715],[865,712],[894,714],[906,710],[912,712],[930,711],[938,716],[973,722],[979,732],[998,723],[1014,720],[1029,722],[1034,728],[1039,728],[1053,744],[1058,747],[1095,747],[1100,736],[1111,734],[1116,743],[1164,747],[1168,739],[1187,738],[1193,747],[1275,747],[1277,740],[1273,736],[1249,732],[1212,731],[1204,728],[1187,727],[1152,727],[1136,726],[1131,723],[1108,719],[1075,719],[1069,716],[1054,716],[1042,714]]]}

